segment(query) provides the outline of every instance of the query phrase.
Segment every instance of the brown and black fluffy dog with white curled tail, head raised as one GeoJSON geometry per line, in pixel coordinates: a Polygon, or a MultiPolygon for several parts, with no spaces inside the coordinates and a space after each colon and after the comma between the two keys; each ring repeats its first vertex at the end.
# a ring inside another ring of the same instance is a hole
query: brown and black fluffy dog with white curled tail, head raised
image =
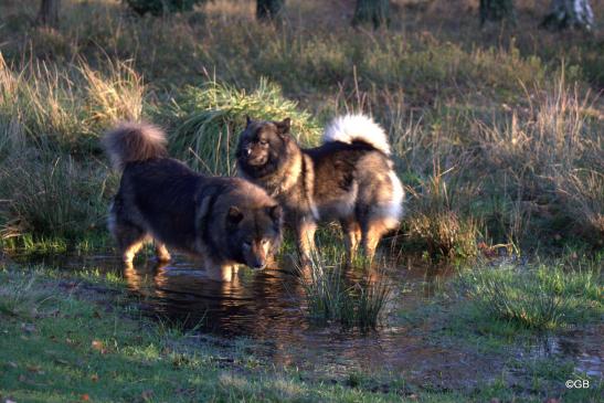
{"type": "Polygon", "coordinates": [[[403,185],[384,130],[364,115],[346,115],[326,128],[322,145],[303,149],[290,119],[247,118],[236,158],[241,177],[279,201],[307,264],[319,221],[339,221],[350,263],[359,244],[371,261],[380,238],[399,226],[403,185]]]}

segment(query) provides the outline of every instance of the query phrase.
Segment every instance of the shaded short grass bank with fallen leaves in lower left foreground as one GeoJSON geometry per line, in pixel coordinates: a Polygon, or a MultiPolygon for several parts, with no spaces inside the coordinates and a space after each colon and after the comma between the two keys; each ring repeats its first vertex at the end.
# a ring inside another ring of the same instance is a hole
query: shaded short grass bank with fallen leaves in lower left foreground
{"type": "MultiPolygon", "coordinates": [[[[107,299],[98,287],[102,277],[65,286],[47,269],[12,266],[0,271],[0,279],[3,400],[401,401],[395,389],[372,392],[370,385],[305,381],[296,371],[275,371],[247,357],[236,341],[216,344],[211,337],[167,330],[140,317],[119,291],[107,299]],[[86,288],[89,282],[97,286],[86,288]]],[[[427,402],[460,399],[416,395],[427,402]]]]}

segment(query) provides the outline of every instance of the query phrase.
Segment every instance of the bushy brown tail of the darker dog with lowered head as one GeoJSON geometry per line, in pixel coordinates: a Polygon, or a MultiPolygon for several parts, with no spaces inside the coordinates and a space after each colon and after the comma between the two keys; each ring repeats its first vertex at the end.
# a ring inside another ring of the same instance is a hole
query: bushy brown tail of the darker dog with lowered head
{"type": "Polygon", "coordinates": [[[116,171],[123,170],[128,162],[167,157],[167,142],[166,134],[159,127],[137,123],[123,123],[103,138],[116,171]]]}

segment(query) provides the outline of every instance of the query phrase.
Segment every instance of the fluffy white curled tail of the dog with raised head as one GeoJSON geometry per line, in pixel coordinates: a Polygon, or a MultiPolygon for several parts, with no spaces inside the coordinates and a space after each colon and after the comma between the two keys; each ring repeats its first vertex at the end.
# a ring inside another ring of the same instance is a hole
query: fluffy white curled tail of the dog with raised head
{"type": "Polygon", "coordinates": [[[390,155],[390,145],[384,129],[365,115],[349,114],[335,118],[325,129],[322,141],[347,144],[363,141],[386,156],[390,155]]]}

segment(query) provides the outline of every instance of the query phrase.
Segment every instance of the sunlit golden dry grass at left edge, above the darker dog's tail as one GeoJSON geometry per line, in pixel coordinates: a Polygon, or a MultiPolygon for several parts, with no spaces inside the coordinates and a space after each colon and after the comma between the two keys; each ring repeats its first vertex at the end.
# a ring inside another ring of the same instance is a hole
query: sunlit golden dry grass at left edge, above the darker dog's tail
{"type": "Polygon", "coordinates": [[[71,153],[89,151],[98,149],[98,136],[112,125],[138,120],[145,92],[140,76],[127,63],[105,67],[100,72],[82,62],[65,70],[45,63],[13,68],[0,54],[0,147],[7,138],[24,136],[30,144],[52,142],[71,153]]]}

